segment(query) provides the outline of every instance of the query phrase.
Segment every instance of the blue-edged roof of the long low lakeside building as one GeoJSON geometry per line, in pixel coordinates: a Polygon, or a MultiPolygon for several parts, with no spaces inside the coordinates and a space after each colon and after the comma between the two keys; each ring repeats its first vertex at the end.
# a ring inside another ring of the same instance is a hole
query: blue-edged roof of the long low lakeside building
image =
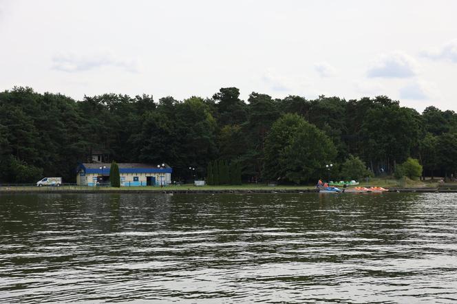
{"type": "MultiPolygon", "coordinates": [[[[153,164],[136,164],[136,163],[119,163],[119,173],[171,173],[173,169],[171,166],[164,164],[164,167],[158,167],[160,165],[153,164]]],[[[109,175],[109,163],[83,163],[79,164],[78,171],[83,170],[85,173],[98,173],[103,175],[109,175]],[[105,169],[100,167],[105,166],[105,169]]]]}

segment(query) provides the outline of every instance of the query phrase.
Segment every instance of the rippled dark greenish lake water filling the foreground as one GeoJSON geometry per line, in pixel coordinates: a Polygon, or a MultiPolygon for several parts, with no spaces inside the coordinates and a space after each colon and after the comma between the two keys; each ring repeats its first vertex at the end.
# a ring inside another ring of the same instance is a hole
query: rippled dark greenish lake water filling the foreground
{"type": "Polygon", "coordinates": [[[451,303],[456,201],[0,194],[0,301],[451,303]]]}

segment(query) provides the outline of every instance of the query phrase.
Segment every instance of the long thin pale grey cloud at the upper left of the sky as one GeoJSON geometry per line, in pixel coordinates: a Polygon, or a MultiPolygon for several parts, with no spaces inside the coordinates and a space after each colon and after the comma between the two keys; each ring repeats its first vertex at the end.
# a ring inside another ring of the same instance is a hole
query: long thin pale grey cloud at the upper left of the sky
{"type": "Polygon", "coordinates": [[[56,54],[52,58],[52,63],[52,69],[64,72],[82,72],[100,67],[119,67],[127,72],[138,72],[136,60],[118,58],[109,51],[99,51],[93,54],[74,52],[56,54]]]}

